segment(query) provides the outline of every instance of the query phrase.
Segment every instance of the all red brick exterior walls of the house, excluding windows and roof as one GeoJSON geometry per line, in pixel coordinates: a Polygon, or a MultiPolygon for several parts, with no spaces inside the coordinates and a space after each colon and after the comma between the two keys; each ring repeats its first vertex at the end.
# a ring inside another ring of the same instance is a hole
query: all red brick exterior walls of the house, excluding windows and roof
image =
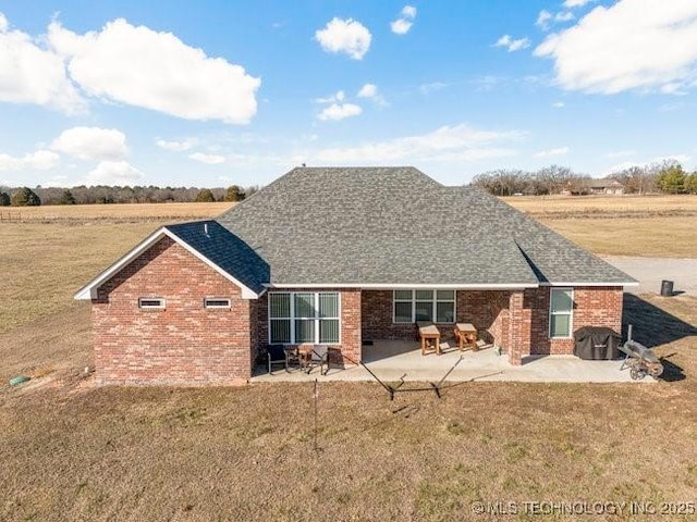
{"type": "MultiPolygon", "coordinates": [[[[415,325],[392,322],[392,290],[322,291],[341,295],[333,363],[360,361],[363,339],[417,338],[415,325]]],[[[572,331],[590,325],[621,333],[622,294],[620,287],[574,288],[572,331]]],[[[549,338],[549,287],[458,290],[456,322],[474,324],[513,364],[528,355],[573,353],[573,338],[549,338]]],[[[242,299],[237,286],[164,237],[98,288],[93,323],[98,384],[236,385],[248,381],[268,344],[268,299],[242,299]],[[142,297],[163,298],[167,308],[139,309],[142,297]],[[232,307],[206,309],[206,297],[230,298],[232,307]]],[[[452,338],[451,324],[439,326],[452,338]]]]}

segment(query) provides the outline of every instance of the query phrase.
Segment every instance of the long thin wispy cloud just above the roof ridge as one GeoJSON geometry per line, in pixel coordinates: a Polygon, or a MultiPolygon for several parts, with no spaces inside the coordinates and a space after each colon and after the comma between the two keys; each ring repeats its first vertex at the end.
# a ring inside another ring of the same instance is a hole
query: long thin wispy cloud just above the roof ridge
{"type": "Polygon", "coordinates": [[[329,148],[318,151],[317,161],[342,163],[399,163],[414,160],[475,161],[513,156],[514,150],[500,142],[518,140],[518,130],[479,130],[468,125],[447,125],[421,136],[366,144],[357,147],[329,148]]]}

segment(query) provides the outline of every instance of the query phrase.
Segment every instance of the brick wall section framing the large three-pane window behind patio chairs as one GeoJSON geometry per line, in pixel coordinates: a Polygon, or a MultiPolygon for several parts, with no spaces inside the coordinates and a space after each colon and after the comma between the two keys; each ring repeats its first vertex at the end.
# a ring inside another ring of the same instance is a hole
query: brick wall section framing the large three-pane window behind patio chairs
{"type": "MultiPolygon", "coordinates": [[[[330,362],[351,364],[359,362],[360,337],[360,290],[357,288],[273,288],[269,291],[338,291],[341,310],[341,344],[330,345],[330,362]]],[[[269,300],[268,293],[256,302],[257,340],[259,349],[269,344],[269,300]]]]}

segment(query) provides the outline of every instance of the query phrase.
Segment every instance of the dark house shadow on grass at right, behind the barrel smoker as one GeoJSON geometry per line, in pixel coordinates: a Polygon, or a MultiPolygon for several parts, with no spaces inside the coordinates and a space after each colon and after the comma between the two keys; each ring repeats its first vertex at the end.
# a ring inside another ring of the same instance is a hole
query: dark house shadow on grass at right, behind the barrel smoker
{"type": "MultiPolygon", "coordinates": [[[[697,328],[680,318],[645,301],[633,294],[624,294],[624,314],[622,319],[622,332],[627,335],[628,325],[632,325],[632,338],[648,348],[697,336],[697,328]]],[[[683,369],[670,361],[674,353],[661,357],[663,374],[661,380],[674,382],[685,378],[683,369]]]]}

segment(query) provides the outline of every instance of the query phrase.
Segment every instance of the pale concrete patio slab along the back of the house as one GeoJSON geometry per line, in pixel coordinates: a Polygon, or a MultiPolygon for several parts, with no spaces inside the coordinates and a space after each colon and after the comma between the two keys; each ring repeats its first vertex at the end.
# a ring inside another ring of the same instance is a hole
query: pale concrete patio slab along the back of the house
{"type": "MultiPolygon", "coordinates": [[[[381,381],[438,382],[448,374],[448,382],[465,381],[516,381],[530,383],[653,383],[651,377],[632,381],[628,370],[621,371],[621,360],[584,361],[575,356],[530,356],[523,364],[514,366],[505,355],[499,356],[492,346],[479,351],[461,352],[452,344],[443,344],[443,353],[421,356],[419,344],[403,340],[379,340],[364,346],[364,361],[381,381]],[[462,360],[460,358],[462,357],[462,360]],[[458,362],[460,360],[460,362],[458,362]],[[454,366],[454,369],[453,369],[454,366]],[[451,371],[452,370],[452,371],[451,371]]],[[[319,369],[309,374],[297,369],[282,369],[267,373],[259,366],[252,377],[253,383],[307,382],[314,381],[374,381],[360,365],[331,366],[327,375],[319,369]]]]}

